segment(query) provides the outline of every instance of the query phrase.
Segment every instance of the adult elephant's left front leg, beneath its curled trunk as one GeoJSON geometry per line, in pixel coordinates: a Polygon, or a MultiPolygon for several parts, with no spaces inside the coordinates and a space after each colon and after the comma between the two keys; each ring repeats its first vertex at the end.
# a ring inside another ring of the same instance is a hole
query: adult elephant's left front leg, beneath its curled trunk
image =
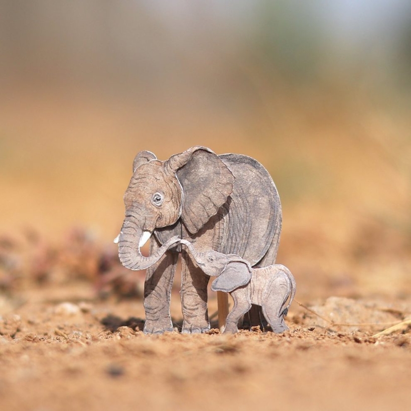
{"type": "MultiPolygon", "coordinates": [[[[159,248],[151,238],[150,254],[159,248]]],[[[145,334],[173,331],[170,316],[170,297],[178,254],[167,251],[161,259],[147,269],[144,282],[145,334]]]]}

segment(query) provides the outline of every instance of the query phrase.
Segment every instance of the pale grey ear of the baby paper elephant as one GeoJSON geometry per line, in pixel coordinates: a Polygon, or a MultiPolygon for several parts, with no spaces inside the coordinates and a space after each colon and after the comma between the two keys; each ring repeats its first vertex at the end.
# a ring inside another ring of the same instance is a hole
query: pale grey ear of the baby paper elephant
{"type": "Polygon", "coordinates": [[[213,291],[231,292],[251,280],[251,267],[246,261],[230,261],[211,284],[213,291]]]}

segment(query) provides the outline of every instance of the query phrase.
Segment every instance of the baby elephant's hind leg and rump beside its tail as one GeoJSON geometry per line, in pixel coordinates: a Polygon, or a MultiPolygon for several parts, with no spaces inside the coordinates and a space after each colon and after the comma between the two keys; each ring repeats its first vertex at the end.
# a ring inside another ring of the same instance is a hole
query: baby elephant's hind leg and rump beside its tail
{"type": "Polygon", "coordinates": [[[270,281],[263,301],[263,313],[275,333],[288,330],[284,322],[284,308],[291,292],[290,281],[285,273],[279,272],[270,281]]]}

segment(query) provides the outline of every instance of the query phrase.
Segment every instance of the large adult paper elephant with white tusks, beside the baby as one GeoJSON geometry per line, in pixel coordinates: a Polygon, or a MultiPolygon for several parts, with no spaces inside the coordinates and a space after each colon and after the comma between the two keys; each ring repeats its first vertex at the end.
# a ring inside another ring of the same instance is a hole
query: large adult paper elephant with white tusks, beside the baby
{"type": "MultiPolygon", "coordinates": [[[[252,266],[274,264],[281,231],[281,206],[274,182],[255,159],[216,155],[191,147],[159,161],[141,151],[124,195],[126,217],[116,239],[122,264],[147,264],[140,247],[151,237],[150,254],[173,236],[195,240],[196,248],[237,254],[252,266]]],[[[145,333],[172,331],[170,293],[182,254],[183,333],[210,329],[205,275],[181,246],[168,250],[147,269],[144,283],[145,333]]]]}

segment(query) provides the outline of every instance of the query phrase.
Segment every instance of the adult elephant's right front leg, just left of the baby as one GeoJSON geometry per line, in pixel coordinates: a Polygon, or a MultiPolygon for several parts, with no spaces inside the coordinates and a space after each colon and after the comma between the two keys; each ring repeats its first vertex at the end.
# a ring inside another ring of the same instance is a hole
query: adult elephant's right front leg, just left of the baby
{"type": "Polygon", "coordinates": [[[210,329],[207,312],[207,284],[210,277],[196,267],[189,255],[181,252],[182,333],[203,333],[210,329]]]}

